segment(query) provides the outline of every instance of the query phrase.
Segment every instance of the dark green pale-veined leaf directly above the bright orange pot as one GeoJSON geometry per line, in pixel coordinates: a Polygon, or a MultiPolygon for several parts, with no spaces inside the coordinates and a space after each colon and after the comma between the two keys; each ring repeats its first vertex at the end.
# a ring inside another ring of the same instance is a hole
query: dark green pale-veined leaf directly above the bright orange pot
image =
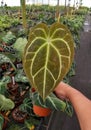
{"type": "Polygon", "coordinates": [[[47,96],[45,102],[43,99],[40,97],[38,93],[33,94],[33,103],[42,106],[42,107],[48,107],[52,110],[57,110],[57,111],[64,111],[66,108],[66,103],[57,98],[54,94],[50,94],[47,96]]]}

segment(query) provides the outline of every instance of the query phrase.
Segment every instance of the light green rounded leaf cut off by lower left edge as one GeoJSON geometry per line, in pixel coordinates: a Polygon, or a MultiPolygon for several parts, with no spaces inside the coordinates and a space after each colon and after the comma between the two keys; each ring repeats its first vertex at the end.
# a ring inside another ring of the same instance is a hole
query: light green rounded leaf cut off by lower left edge
{"type": "Polygon", "coordinates": [[[0,94],[0,110],[7,111],[13,108],[14,108],[13,101],[6,98],[4,95],[0,94]]]}

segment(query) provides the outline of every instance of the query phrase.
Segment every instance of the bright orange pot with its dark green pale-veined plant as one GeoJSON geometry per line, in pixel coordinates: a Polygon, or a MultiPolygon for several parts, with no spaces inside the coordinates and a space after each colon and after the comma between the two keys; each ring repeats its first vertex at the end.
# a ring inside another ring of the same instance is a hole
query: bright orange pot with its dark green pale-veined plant
{"type": "Polygon", "coordinates": [[[30,97],[33,104],[33,112],[40,117],[49,116],[52,111],[63,111],[69,116],[72,116],[73,108],[68,101],[62,101],[56,97],[56,95],[51,92],[45,102],[39,95],[37,91],[30,91],[30,97]]]}

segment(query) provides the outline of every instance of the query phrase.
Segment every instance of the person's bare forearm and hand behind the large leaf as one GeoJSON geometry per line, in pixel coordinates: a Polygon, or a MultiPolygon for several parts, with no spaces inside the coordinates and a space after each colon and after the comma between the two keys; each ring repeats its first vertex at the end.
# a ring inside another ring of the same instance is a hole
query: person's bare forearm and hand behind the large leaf
{"type": "Polygon", "coordinates": [[[77,114],[81,130],[91,130],[91,100],[64,82],[59,83],[55,93],[60,99],[70,100],[77,114]]]}

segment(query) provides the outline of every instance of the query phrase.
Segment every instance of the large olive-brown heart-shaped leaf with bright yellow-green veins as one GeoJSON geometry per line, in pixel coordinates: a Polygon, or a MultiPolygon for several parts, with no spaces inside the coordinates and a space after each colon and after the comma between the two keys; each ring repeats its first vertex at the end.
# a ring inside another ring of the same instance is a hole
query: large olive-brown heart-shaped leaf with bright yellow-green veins
{"type": "Polygon", "coordinates": [[[65,77],[74,56],[74,42],[61,23],[35,26],[24,52],[24,70],[32,87],[45,99],[65,77]]]}

